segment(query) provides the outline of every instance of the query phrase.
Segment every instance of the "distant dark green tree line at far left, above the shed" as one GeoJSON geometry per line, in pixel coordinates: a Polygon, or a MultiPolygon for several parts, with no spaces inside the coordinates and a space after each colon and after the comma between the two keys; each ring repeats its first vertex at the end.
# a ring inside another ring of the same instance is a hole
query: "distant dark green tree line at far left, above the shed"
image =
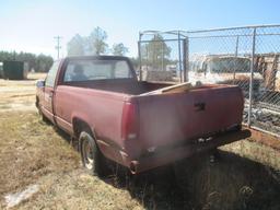
{"type": "Polygon", "coordinates": [[[35,55],[24,51],[0,51],[0,62],[5,60],[27,62],[28,70],[34,70],[36,72],[47,72],[54,62],[54,59],[50,56],[46,56],[44,54],[35,55]]]}

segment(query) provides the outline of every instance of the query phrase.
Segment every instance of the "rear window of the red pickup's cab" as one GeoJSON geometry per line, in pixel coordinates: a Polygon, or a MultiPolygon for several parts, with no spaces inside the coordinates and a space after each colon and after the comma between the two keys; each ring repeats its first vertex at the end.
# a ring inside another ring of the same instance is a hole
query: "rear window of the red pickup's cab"
{"type": "Polygon", "coordinates": [[[131,79],[130,68],[125,60],[71,60],[66,72],[65,82],[131,79]]]}

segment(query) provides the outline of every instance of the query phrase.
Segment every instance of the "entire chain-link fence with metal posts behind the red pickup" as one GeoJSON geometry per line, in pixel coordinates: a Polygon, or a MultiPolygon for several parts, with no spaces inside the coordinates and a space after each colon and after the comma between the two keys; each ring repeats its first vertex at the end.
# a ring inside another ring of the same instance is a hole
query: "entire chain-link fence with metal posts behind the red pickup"
{"type": "Polygon", "coordinates": [[[244,124],[280,137],[280,25],[149,31],[139,37],[142,80],[238,85],[244,124]]]}

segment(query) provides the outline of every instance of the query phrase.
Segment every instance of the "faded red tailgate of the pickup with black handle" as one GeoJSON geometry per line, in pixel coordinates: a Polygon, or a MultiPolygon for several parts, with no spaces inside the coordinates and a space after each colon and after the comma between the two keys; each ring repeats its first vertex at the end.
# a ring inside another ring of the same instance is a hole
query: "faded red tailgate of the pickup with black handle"
{"type": "Polygon", "coordinates": [[[237,86],[203,85],[137,101],[142,149],[185,142],[242,124],[244,101],[237,86]]]}

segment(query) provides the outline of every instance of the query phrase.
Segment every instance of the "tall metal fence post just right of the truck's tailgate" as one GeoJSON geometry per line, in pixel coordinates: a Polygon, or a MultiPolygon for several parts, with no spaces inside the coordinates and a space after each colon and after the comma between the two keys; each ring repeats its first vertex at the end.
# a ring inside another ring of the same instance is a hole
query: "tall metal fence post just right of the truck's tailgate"
{"type": "Polygon", "coordinates": [[[252,38],[252,61],[250,61],[250,77],[249,77],[249,109],[248,109],[248,127],[252,125],[252,103],[253,103],[253,85],[254,85],[254,58],[256,47],[256,27],[253,31],[252,38]]]}

